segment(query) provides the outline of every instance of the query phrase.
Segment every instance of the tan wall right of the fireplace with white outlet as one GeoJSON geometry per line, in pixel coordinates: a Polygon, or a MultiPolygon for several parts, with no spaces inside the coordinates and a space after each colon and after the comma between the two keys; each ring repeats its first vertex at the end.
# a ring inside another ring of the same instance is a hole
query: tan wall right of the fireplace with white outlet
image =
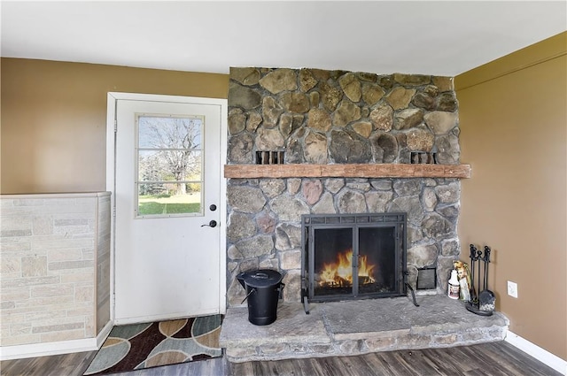
{"type": "Polygon", "coordinates": [[[489,287],[510,331],[567,359],[567,33],[455,78],[459,235],[493,249],[489,287]],[[507,295],[517,282],[518,297],[507,295]]]}

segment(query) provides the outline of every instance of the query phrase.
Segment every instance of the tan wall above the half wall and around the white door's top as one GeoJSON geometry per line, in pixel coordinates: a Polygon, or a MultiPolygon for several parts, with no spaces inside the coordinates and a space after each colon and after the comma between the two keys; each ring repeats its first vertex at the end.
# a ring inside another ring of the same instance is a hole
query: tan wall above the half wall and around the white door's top
{"type": "Polygon", "coordinates": [[[2,194],[105,190],[106,93],[226,98],[229,76],[2,58],[2,194]]]}

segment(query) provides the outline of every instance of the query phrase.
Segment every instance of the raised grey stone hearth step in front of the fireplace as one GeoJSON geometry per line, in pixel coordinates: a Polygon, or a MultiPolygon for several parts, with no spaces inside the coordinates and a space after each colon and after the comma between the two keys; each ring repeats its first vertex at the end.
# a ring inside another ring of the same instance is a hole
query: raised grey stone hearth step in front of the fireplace
{"type": "Polygon", "coordinates": [[[502,341],[509,320],[479,316],[445,295],[311,303],[279,303],[276,322],[255,326],[245,306],[227,310],[221,347],[230,362],[361,355],[502,341]]]}

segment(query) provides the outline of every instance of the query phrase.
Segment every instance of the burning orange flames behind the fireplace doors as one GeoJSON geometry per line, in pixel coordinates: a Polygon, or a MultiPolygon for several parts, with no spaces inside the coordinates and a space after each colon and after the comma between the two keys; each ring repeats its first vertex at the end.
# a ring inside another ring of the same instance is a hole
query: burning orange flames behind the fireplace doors
{"type": "MultiPolygon", "coordinates": [[[[353,284],[353,249],[337,255],[338,262],[323,264],[319,273],[321,286],[351,286],[353,284]]],[[[372,277],[376,265],[368,264],[367,256],[359,256],[358,277],[360,284],[374,283],[372,277]]]]}

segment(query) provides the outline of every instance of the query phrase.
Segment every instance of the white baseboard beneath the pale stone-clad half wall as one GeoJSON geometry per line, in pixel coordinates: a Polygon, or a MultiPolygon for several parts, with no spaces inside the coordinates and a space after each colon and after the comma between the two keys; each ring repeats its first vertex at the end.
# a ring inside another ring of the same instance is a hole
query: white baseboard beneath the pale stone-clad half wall
{"type": "Polygon", "coordinates": [[[94,351],[100,349],[112,329],[113,322],[109,321],[97,335],[97,338],[30,343],[27,345],[16,346],[1,346],[0,360],[24,359],[27,357],[48,357],[51,355],[72,354],[74,352],[82,351],[94,351]]]}

